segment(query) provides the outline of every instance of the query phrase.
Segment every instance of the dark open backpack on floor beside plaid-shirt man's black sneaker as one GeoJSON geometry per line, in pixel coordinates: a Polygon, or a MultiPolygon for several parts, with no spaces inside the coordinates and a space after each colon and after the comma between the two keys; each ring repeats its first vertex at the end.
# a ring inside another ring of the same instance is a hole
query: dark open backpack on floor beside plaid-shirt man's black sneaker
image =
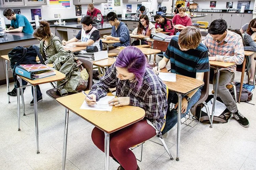
{"type": "MultiPolygon", "coordinates": [[[[213,98],[213,95],[209,95],[208,98],[207,98],[207,100],[206,100],[205,102],[206,102],[206,103],[211,102],[211,99],[212,99],[212,98],[213,98]]],[[[219,101],[219,102],[221,102],[221,103],[223,103],[222,100],[221,100],[219,97],[217,97],[216,100],[219,101]]],[[[204,106],[203,104],[197,105],[195,115],[194,115],[194,113],[192,113],[192,114],[195,116],[195,118],[196,118],[197,120],[199,120],[199,117],[200,117],[200,114],[201,114],[200,122],[203,122],[203,123],[210,123],[209,117],[208,117],[207,113],[204,112],[204,111],[202,111],[203,106],[204,106]]],[[[209,108],[209,109],[210,109],[210,108],[209,108]]],[[[210,109],[210,113],[211,113],[211,112],[212,112],[212,111],[211,111],[211,109],[210,109]]],[[[216,113],[216,107],[215,107],[215,113],[216,113]]],[[[214,116],[214,117],[213,117],[213,123],[226,123],[226,122],[228,122],[228,119],[229,119],[230,117],[231,117],[231,113],[230,113],[229,110],[226,108],[226,109],[221,113],[221,115],[219,115],[219,116],[214,116]]],[[[210,116],[210,118],[211,118],[211,116],[210,116]]]]}

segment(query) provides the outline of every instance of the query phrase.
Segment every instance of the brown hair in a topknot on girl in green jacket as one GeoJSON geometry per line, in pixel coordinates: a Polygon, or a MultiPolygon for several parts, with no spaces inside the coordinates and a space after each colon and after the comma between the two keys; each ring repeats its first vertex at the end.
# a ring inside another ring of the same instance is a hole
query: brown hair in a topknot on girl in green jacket
{"type": "Polygon", "coordinates": [[[51,30],[50,30],[50,24],[46,20],[39,21],[40,26],[35,29],[33,32],[34,37],[44,38],[47,36],[47,39],[50,39],[52,37],[51,30]]]}

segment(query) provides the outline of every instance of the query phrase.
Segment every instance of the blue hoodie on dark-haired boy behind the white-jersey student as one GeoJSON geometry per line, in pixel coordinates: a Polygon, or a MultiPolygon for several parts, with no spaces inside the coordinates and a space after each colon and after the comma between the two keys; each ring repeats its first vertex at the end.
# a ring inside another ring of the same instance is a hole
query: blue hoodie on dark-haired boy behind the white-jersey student
{"type": "Polygon", "coordinates": [[[112,37],[119,37],[120,43],[114,43],[113,47],[118,47],[118,46],[129,46],[130,45],[130,34],[127,26],[125,25],[124,22],[120,22],[119,26],[117,29],[115,29],[115,26],[112,26],[112,31],[111,31],[111,36],[112,37]]]}

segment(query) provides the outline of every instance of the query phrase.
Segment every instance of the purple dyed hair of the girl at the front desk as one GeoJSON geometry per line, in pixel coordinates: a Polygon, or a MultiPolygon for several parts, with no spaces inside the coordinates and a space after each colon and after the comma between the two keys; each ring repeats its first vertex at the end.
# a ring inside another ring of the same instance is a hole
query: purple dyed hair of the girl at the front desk
{"type": "Polygon", "coordinates": [[[141,50],[136,47],[126,47],[119,53],[115,66],[126,68],[128,72],[133,73],[138,82],[138,86],[141,86],[148,64],[141,50]]]}

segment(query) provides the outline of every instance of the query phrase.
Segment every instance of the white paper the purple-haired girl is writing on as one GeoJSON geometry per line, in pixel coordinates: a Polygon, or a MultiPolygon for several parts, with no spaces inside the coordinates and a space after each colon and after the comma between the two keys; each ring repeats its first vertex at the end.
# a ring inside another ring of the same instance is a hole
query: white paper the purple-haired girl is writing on
{"type": "Polygon", "coordinates": [[[97,104],[93,106],[88,106],[87,103],[84,101],[81,105],[80,109],[86,109],[86,110],[95,110],[95,111],[112,111],[113,106],[109,106],[108,101],[114,99],[115,96],[105,96],[103,98],[100,98],[99,101],[97,101],[97,104]]]}

